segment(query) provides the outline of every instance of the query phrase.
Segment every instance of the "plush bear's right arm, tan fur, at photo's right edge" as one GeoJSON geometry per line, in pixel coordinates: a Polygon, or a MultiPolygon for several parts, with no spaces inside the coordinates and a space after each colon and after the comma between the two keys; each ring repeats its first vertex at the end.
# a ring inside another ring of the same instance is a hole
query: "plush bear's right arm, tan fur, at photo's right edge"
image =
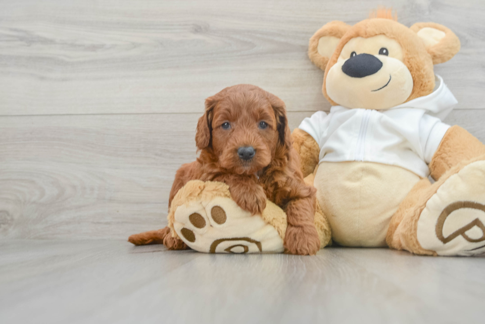
{"type": "Polygon", "coordinates": [[[459,126],[448,129],[429,165],[431,176],[438,180],[443,173],[459,163],[485,155],[485,145],[459,126]]]}

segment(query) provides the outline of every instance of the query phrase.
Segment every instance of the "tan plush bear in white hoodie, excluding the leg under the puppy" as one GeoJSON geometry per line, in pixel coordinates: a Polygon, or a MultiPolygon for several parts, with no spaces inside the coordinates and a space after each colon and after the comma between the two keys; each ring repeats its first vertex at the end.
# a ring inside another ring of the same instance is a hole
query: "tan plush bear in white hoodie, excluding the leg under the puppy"
{"type": "Polygon", "coordinates": [[[332,108],[292,137],[335,243],[485,252],[485,145],[441,122],[457,101],[433,71],[459,49],[448,28],[408,28],[390,10],[353,26],[329,22],[311,37],[332,108]]]}

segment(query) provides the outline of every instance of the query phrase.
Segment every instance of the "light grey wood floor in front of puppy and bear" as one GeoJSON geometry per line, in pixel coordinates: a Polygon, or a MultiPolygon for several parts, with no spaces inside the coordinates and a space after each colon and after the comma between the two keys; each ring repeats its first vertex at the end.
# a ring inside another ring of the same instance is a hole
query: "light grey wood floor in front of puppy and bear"
{"type": "Polygon", "coordinates": [[[2,323],[482,323],[483,258],[0,241],[2,323]]]}

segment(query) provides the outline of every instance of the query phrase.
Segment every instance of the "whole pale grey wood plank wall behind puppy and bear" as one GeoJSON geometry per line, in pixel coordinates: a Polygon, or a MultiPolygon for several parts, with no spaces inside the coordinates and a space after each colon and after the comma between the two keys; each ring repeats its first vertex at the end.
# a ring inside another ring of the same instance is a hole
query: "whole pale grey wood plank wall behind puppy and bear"
{"type": "MultiPolygon", "coordinates": [[[[280,96],[292,128],[329,110],[306,56],[323,24],[379,0],[16,0],[0,3],[0,238],[126,238],[165,224],[195,158],[204,99],[238,83],[280,96]]],[[[451,28],[436,66],[445,120],[485,140],[485,1],[391,0],[407,26],[451,28]]]]}

